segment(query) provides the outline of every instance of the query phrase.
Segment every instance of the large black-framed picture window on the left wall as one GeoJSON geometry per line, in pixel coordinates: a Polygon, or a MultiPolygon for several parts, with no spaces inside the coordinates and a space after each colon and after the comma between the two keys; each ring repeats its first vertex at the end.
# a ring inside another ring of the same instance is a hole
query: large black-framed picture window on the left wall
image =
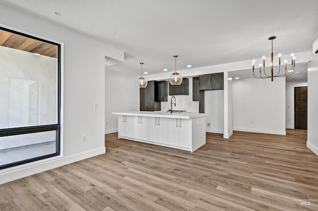
{"type": "Polygon", "coordinates": [[[0,27],[0,169],[60,155],[60,51],[0,27]]]}

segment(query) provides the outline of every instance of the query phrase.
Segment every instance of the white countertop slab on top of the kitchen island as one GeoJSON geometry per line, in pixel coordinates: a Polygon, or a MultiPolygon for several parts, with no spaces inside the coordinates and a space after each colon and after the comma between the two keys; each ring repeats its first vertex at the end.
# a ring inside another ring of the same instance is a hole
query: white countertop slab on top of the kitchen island
{"type": "Polygon", "coordinates": [[[124,111],[124,112],[112,112],[115,115],[127,115],[127,116],[150,116],[161,118],[178,118],[178,119],[193,119],[202,116],[206,116],[205,113],[199,112],[182,112],[182,113],[170,113],[165,111],[124,111]]]}

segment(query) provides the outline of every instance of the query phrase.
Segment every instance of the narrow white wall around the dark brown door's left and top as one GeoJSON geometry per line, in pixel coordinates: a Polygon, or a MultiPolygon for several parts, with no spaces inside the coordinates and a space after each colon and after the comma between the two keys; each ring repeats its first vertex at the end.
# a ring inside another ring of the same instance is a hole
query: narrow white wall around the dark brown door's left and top
{"type": "Polygon", "coordinates": [[[286,128],[295,128],[294,88],[307,86],[307,81],[286,82],[286,128]]]}

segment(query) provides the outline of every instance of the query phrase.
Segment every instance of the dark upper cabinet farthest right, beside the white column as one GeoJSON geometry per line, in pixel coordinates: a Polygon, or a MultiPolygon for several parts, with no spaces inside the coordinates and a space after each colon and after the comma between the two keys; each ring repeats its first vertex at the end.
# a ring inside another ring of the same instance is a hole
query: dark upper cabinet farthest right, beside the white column
{"type": "Polygon", "coordinates": [[[199,76],[200,90],[223,90],[223,72],[199,76]]]}

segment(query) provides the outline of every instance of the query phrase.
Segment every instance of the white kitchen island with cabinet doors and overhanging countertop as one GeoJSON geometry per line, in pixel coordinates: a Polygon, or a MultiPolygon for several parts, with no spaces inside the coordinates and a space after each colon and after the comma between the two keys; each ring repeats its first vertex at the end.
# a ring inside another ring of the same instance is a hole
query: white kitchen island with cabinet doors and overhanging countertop
{"type": "Polygon", "coordinates": [[[194,152],[206,143],[206,114],[164,111],[112,112],[118,138],[194,152]]]}

